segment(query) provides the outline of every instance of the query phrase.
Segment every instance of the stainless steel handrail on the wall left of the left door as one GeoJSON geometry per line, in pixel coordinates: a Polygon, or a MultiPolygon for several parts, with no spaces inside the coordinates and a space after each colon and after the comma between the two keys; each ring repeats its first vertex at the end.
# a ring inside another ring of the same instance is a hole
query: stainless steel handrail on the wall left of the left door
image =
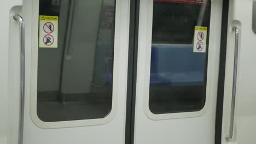
{"type": "Polygon", "coordinates": [[[23,18],[15,14],[13,19],[20,26],[20,117],[19,117],[19,144],[23,143],[24,130],[24,104],[25,104],[25,27],[23,18]]]}

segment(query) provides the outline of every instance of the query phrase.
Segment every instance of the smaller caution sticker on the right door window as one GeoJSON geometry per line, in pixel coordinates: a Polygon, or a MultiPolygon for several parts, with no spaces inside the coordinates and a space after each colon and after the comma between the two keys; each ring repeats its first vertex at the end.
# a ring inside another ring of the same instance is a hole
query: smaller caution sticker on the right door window
{"type": "Polygon", "coordinates": [[[193,52],[206,52],[207,27],[195,26],[193,52]]]}

